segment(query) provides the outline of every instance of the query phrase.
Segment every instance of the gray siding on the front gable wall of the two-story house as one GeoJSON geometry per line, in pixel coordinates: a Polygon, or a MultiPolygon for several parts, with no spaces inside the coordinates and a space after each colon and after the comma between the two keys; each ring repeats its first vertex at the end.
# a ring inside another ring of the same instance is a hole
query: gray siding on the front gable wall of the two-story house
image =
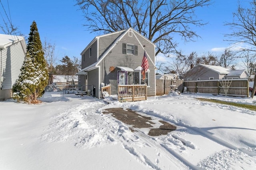
{"type": "MultiPolygon", "coordinates": [[[[152,59],[153,63],[155,62],[155,54],[154,54],[154,45],[149,43],[146,39],[142,38],[140,35],[136,35],[142,45],[146,45],[145,49],[152,59]]],[[[107,37],[104,37],[107,38],[107,37]]],[[[108,36],[110,41],[114,41],[111,36],[108,36]]],[[[128,33],[116,44],[116,46],[112,49],[111,53],[109,53],[99,64],[101,68],[100,72],[100,83],[103,82],[105,84],[111,84],[111,94],[117,94],[117,71],[120,70],[115,68],[114,71],[110,72],[110,66],[126,66],[132,69],[141,66],[142,59],[144,56],[144,49],[137,41],[136,37],[133,35],[132,37],[128,36],[128,33]],[[122,44],[128,43],[132,45],[138,46],[138,55],[129,55],[122,53],[122,44]]],[[[155,95],[155,69],[154,65],[151,63],[148,57],[149,70],[150,70],[150,88],[148,88],[148,96],[155,95]]],[[[133,83],[133,75],[128,76],[128,84],[133,83]]]]}

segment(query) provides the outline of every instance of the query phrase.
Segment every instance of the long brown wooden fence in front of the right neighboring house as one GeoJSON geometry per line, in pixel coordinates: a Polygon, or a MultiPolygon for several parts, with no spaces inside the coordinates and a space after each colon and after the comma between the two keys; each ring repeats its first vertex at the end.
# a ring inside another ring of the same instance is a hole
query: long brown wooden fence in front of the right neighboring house
{"type": "Polygon", "coordinates": [[[188,82],[184,82],[184,87],[186,87],[187,92],[192,92],[192,93],[207,93],[207,94],[249,97],[248,79],[188,81],[188,82]],[[228,89],[227,92],[225,92],[225,89],[228,89]]]}

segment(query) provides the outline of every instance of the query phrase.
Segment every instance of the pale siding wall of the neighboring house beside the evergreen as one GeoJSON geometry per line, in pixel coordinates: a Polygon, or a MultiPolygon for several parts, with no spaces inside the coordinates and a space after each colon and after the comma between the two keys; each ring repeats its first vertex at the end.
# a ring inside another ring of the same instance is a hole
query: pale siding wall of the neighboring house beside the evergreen
{"type": "Polygon", "coordinates": [[[3,89],[12,89],[13,84],[20,75],[20,68],[25,59],[25,53],[20,41],[8,46],[6,49],[0,49],[2,56],[2,75],[5,80],[2,83],[3,89]]]}

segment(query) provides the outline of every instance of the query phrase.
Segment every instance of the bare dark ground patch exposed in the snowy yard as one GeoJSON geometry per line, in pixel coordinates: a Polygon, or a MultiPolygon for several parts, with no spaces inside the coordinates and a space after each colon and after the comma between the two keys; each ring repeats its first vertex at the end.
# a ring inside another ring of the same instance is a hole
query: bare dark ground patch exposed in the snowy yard
{"type": "MultiPolygon", "coordinates": [[[[104,114],[112,113],[111,115],[116,119],[126,123],[127,125],[132,125],[134,128],[150,128],[148,135],[150,136],[159,136],[159,135],[167,135],[167,133],[174,131],[176,126],[171,125],[165,121],[159,120],[160,125],[159,128],[152,128],[155,123],[150,121],[152,120],[149,116],[142,116],[136,111],[131,109],[124,110],[123,108],[109,108],[105,109],[106,111],[102,112],[104,114]]],[[[134,129],[130,128],[133,132],[134,129]]]]}

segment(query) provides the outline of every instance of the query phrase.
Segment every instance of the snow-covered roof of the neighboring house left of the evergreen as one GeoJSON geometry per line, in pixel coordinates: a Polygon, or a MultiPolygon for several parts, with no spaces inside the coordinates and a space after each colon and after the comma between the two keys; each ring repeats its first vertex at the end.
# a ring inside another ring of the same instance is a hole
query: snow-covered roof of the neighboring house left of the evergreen
{"type": "Polygon", "coordinates": [[[15,44],[19,41],[21,42],[22,49],[23,49],[24,53],[26,53],[25,38],[22,36],[17,36],[17,35],[0,34],[0,49],[5,49],[8,46],[15,44]]]}

